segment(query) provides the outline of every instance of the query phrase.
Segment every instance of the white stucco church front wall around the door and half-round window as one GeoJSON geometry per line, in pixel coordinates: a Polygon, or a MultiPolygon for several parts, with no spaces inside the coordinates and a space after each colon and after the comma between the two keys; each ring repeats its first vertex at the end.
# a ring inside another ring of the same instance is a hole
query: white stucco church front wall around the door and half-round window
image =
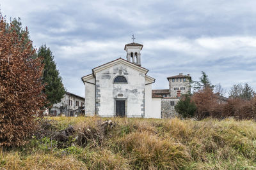
{"type": "Polygon", "coordinates": [[[115,99],[127,100],[127,117],[144,116],[145,74],[125,64],[116,64],[96,73],[96,87],[96,112],[99,116],[114,116],[115,99]],[[124,76],[128,83],[113,83],[119,75],[124,76]]]}

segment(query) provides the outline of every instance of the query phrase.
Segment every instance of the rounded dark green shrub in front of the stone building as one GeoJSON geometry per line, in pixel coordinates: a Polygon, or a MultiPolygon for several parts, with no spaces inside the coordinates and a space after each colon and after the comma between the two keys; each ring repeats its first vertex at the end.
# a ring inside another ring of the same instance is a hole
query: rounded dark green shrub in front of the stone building
{"type": "Polygon", "coordinates": [[[184,118],[193,117],[196,111],[196,104],[191,101],[190,96],[182,96],[182,99],[175,105],[175,111],[184,118]]]}

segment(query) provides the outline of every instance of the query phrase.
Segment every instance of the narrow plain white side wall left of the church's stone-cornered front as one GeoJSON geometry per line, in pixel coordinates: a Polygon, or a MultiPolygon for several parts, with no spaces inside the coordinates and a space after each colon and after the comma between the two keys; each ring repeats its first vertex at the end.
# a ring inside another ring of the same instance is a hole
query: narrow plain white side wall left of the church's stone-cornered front
{"type": "Polygon", "coordinates": [[[95,115],[95,78],[87,80],[84,85],[84,113],[86,116],[93,116],[95,115]]]}

